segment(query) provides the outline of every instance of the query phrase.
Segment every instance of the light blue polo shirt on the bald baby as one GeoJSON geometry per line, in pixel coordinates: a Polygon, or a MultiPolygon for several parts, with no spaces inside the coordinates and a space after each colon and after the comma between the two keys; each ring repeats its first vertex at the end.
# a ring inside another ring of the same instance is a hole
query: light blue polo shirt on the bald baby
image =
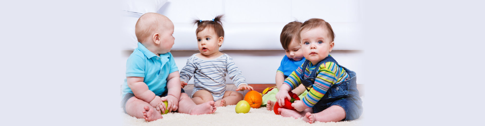
{"type": "MultiPolygon", "coordinates": [[[[160,54],[160,57],[146,49],[141,43],[129,55],[126,62],[126,77],[143,77],[143,82],[148,85],[148,89],[161,95],[167,90],[167,77],[170,73],[177,72],[174,57],[170,52],[160,54]]],[[[127,93],[133,93],[125,82],[121,86],[123,97],[127,93]]]]}

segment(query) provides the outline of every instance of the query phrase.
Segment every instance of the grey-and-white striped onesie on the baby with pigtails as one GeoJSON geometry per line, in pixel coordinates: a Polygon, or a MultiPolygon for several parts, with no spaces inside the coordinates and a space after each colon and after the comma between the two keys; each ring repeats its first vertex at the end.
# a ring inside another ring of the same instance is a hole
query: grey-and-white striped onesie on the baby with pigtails
{"type": "Polygon", "coordinates": [[[204,60],[195,55],[189,57],[187,64],[180,71],[180,81],[188,82],[194,76],[194,90],[191,95],[199,90],[207,90],[212,94],[214,101],[222,99],[226,92],[226,74],[236,87],[241,84],[247,85],[241,70],[229,55],[223,53],[211,60],[204,60]]]}

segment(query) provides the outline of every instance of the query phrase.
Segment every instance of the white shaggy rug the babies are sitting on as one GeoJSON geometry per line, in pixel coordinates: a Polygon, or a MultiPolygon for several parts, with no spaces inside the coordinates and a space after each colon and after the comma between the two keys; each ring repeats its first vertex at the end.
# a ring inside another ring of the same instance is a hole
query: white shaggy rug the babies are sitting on
{"type": "Polygon", "coordinates": [[[170,112],[164,114],[162,119],[152,122],[146,122],[144,119],[137,119],[125,113],[122,113],[122,118],[123,124],[126,126],[359,126],[362,125],[365,113],[353,121],[309,124],[301,118],[294,119],[276,115],[273,111],[266,110],[265,107],[251,108],[248,113],[236,113],[235,108],[236,105],[218,107],[214,113],[203,115],[170,112]]]}

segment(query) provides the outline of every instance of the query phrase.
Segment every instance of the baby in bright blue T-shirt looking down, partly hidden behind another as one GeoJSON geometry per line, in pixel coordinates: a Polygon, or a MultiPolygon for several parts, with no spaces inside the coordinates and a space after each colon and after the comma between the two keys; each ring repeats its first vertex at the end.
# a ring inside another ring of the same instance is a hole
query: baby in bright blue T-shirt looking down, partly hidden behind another
{"type": "MultiPolygon", "coordinates": [[[[267,110],[273,110],[274,103],[276,102],[276,93],[278,93],[278,89],[285,79],[290,76],[291,72],[295,71],[305,62],[305,57],[303,57],[303,52],[300,49],[300,40],[298,38],[298,32],[300,31],[301,25],[301,22],[293,21],[286,24],[281,31],[279,40],[281,46],[285,49],[286,55],[281,60],[281,64],[276,71],[276,87],[270,88],[263,94],[263,103],[261,105],[266,105],[267,110]]],[[[301,98],[308,93],[303,85],[300,85],[291,92],[297,94],[301,98]]]]}

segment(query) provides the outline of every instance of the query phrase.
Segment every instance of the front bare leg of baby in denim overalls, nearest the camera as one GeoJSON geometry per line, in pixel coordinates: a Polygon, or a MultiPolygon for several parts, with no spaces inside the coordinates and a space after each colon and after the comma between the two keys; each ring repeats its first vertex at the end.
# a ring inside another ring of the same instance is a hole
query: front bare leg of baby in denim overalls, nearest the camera
{"type": "Polygon", "coordinates": [[[310,124],[314,123],[315,121],[339,122],[345,119],[345,116],[345,110],[343,110],[343,108],[338,105],[334,105],[318,113],[312,114],[310,112],[307,112],[303,120],[310,124]]]}

